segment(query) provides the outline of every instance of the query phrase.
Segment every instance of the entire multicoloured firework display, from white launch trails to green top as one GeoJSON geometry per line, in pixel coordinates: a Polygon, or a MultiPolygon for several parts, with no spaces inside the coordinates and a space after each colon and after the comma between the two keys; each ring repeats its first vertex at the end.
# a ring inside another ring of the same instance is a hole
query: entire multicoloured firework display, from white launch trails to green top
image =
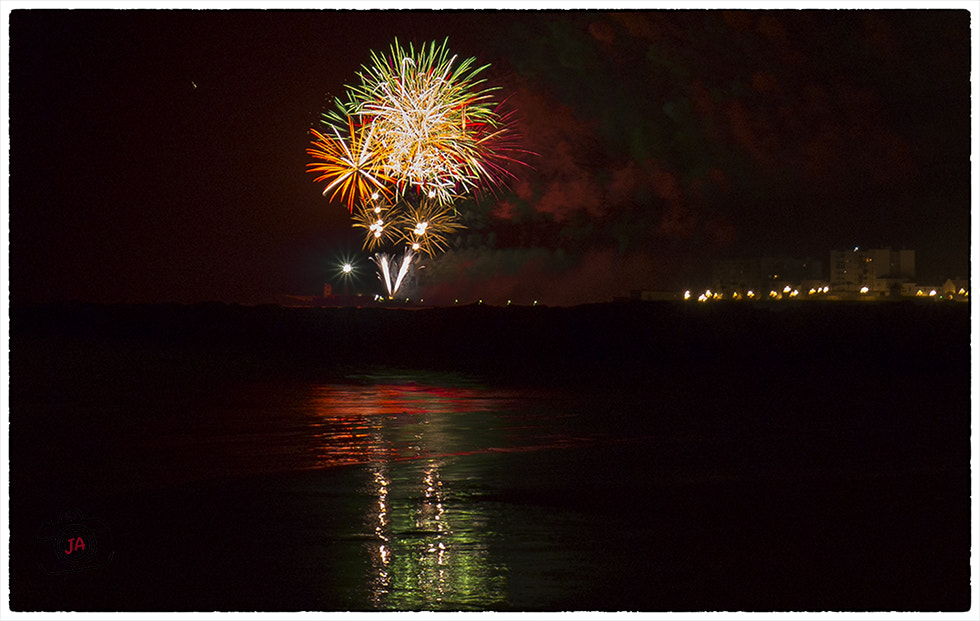
{"type": "Polygon", "coordinates": [[[445,41],[416,50],[395,40],[389,54],[371,53],[322,131],[311,130],[308,171],[326,182],[324,196],[346,202],[364,248],[407,248],[397,271],[387,254],[374,257],[389,296],[416,256],[445,250],[464,228],[455,201],[502,186],[522,163],[512,119],[480,77],[487,66],[450,54],[445,41]]]}

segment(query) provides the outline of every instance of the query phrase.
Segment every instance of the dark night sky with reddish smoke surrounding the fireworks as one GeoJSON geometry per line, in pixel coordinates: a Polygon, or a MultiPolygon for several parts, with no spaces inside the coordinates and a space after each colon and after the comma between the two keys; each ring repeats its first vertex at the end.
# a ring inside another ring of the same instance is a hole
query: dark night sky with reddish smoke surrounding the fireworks
{"type": "Polygon", "coordinates": [[[536,155],[426,262],[432,301],[606,301],[712,261],[970,271],[966,10],[9,13],[12,303],[315,294],[358,263],[309,129],[372,50],[449,38],[536,155]]]}

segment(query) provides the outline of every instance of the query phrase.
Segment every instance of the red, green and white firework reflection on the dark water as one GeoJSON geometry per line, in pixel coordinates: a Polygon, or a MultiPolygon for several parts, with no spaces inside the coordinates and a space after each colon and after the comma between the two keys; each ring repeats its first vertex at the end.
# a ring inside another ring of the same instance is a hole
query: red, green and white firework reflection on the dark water
{"type": "Polygon", "coordinates": [[[473,456],[504,441],[510,404],[471,387],[378,383],[317,387],[317,462],[363,464],[364,540],[375,609],[483,609],[506,598],[507,568],[490,554],[487,506],[467,490],[473,456]]]}

